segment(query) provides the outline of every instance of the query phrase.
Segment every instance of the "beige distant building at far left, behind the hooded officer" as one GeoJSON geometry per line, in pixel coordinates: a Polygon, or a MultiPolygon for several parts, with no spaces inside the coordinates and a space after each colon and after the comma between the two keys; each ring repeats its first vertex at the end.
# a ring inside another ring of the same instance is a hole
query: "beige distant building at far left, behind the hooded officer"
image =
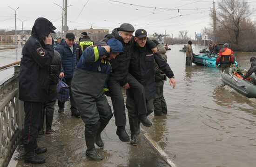
{"type": "MultiPolygon", "coordinates": [[[[31,30],[17,30],[18,45],[24,45],[30,36],[31,36],[31,30]]],[[[0,32],[0,44],[14,44],[14,42],[15,42],[15,30],[0,32]]]]}

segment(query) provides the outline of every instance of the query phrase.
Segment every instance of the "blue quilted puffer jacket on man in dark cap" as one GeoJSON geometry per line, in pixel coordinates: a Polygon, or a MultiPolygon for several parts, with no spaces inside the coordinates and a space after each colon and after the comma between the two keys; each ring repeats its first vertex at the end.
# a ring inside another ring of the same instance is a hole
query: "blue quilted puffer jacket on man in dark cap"
{"type": "Polygon", "coordinates": [[[73,45],[74,51],[70,50],[65,39],[61,40],[61,44],[55,48],[61,55],[61,72],[64,72],[65,77],[73,77],[76,66],[76,58],[79,54],[79,45],[73,45]]]}

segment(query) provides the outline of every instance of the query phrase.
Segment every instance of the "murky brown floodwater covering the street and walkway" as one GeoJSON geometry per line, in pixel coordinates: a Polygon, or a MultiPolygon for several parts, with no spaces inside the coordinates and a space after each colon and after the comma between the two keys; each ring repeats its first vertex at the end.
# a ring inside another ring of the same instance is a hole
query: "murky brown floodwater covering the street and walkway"
{"type": "MultiPolygon", "coordinates": [[[[185,66],[186,55],[179,51],[182,47],[171,45],[172,50],[167,51],[177,83],[175,89],[168,82],[164,85],[168,115],[151,114],[153,126],[143,129],[178,167],[256,167],[256,99],[224,85],[220,69],[185,66]]],[[[193,45],[195,54],[200,48],[193,45]]],[[[18,61],[20,51],[0,51],[0,65],[18,61]]],[[[248,70],[249,58],[255,54],[237,53],[236,61],[248,70]]],[[[83,122],[71,117],[68,107],[60,114],[56,106],[55,132],[39,138],[41,145],[49,146],[49,152],[44,155],[47,163],[40,167],[168,166],[142,135],[137,147],[119,141],[114,121],[113,117],[102,134],[104,148],[98,149],[104,160],[90,161],[85,156],[83,122]]],[[[127,129],[129,132],[128,126],[127,129]]],[[[32,166],[23,163],[21,154],[19,149],[15,152],[10,167],[32,166]]]]}

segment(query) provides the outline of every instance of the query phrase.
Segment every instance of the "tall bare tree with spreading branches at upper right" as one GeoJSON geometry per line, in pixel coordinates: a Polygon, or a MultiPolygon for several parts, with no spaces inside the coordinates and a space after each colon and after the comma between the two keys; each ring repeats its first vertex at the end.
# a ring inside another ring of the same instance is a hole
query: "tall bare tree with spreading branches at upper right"
{"type": "MultiPolygon", "coordinates": [[[[220,0],[217,13],[218,29],[226,29],[230,37],[234,37],[234,43],[239,45],[239,37],[244,30],[242,24],[252,14],[247,0],[220,0]]],[[[219,35],[218,35],[219,36],[219,35]]],[[[232,39],[232,38],[231,38],[232,39]]]]}

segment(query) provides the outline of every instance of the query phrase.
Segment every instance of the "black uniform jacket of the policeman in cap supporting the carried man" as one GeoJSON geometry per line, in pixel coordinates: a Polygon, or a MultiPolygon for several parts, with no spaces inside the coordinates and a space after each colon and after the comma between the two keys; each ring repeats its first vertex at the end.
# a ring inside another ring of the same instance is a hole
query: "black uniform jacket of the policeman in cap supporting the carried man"
{"type": "Polygon", "coordinates": [[[155,97],[155,62],[168,78],[174,77],[169,64],[164,61],[161,55],[158,53],[153,54],[147,46],[140,47],[134,44],[129,73],[144,86],[147,101],[155,97]]]}

